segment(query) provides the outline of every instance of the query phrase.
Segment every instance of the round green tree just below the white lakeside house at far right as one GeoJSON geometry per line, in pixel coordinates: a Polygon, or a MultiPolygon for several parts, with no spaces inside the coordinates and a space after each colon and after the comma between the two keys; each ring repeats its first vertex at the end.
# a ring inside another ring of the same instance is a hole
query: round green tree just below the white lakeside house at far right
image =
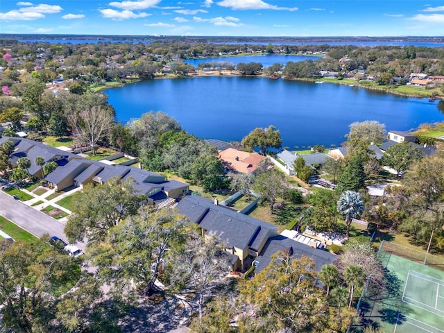
{"type": "Polygon", "coordinates": [[[381,162],[400,173],[407,171],[413,162],[422,157],[424,157],[424,153],[418,147],[413,146],[410,142],[402,142],[388,147],[382,155],[381,162]]]}

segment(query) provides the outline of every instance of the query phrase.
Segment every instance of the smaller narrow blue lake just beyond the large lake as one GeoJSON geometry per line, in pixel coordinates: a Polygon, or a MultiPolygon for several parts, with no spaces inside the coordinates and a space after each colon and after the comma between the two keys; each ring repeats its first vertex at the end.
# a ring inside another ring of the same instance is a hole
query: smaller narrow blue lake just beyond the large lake
{"type": "Polygon", "coordinates": [[[262,54],[262,55],[252,55],[252,56],[239,56],[239,57],[217,57],[217,58],[205,58],[205,59],[186,59],[183,60],[187,64],[193,65],[195,68],[203,62],[231,62],[233,65],[239,64],[239,62],[259,62],[263,67],[268,67],[276,62],[282,65],[286,65],[287,62],[293,61],[305,61],[305,60],[318,60],[322,57],[316,56],[294,56],[294,55],[279,55],[279,54],[262,54]]]}

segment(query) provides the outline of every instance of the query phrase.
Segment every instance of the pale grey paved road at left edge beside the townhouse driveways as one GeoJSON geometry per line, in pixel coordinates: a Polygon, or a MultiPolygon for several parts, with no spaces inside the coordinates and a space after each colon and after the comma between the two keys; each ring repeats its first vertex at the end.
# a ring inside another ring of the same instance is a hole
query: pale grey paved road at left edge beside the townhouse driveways
{"type": "Polygon", "coordinates": [[[43,234],[67,239],[63,229],[65,225],[56,219],[15,200],[12,196],[0,191],[0,215],[24,228],[37,237],[43,234]]]}

